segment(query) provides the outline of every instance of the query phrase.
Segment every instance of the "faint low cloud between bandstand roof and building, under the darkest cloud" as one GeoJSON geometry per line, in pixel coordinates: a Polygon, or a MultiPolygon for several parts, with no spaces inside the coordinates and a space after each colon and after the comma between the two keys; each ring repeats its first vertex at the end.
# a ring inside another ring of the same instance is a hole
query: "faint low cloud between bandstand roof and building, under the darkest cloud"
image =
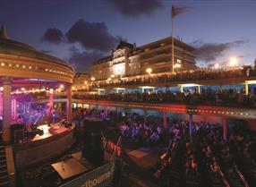
{"type": "Polygon", "coordinates": [[[73,64],[76,72],[90,72],[90,65],[105,56],[105,54],[97,50],[80,52],[76,47],[70,47],[70,58],[68,61],[73,64]]]}

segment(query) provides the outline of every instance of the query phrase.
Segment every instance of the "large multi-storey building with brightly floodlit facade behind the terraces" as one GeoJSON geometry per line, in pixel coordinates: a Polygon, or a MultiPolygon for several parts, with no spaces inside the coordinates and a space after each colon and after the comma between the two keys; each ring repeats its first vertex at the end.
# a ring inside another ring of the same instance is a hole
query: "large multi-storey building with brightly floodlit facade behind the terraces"
{"type": "MultiPolygon", "coordinates": [[[[175,38],[175,71],[195,69],[194,48],[175,38]],[[177,65],[179,64],[179,65],[177,65]]],[[[172,71],[171,38],[163,38],[141,47],[121,41],[111,55],[94,62],[90,75],[96,81],[172,71]]]]}

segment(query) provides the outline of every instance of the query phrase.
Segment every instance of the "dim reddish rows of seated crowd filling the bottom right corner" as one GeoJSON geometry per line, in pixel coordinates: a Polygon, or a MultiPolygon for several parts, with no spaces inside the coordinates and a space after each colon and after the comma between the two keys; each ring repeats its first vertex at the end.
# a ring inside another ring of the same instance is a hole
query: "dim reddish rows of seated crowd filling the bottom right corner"
{"type": "MultiPolygon", "coordinates": [[[[235,126],[228,140],[222,139],[218,123],[194,124],[191,138],[184,133],[183,122],[176,123],[179,136],[171,135],[171,143],[160,156],[153,175],[160,182],[183,186],[253,186],[256,182],[255,134],[235,126]]],[[[175,130],[173,129],[173,130],[175,130]]]]}

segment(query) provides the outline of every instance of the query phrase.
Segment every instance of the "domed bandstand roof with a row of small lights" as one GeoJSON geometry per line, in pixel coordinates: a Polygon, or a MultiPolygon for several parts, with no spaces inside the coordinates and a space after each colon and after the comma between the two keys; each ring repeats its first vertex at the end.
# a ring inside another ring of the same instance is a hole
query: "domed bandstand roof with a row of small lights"
{"type": "Polygon", "coordinates": [[[0,69],[0,76],[73,82],[74,71],[71,64],[39,52],[27,44],[9,39],[4,25],[0,30],[0,61],[1,69],[6,68],[6,71],[0,69]]]}

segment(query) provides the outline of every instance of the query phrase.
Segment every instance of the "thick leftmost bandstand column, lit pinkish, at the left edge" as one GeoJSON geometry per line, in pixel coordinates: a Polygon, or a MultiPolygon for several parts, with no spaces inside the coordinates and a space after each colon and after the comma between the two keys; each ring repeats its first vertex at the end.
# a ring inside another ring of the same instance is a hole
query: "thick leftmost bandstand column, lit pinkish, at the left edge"
{"type": "Polygon", "coordinates": [[[10,143],[11,142],[11,120],[12,120],[12,85],[11,78],[4,77],[3,81],[3,142],[10,143]]]}

